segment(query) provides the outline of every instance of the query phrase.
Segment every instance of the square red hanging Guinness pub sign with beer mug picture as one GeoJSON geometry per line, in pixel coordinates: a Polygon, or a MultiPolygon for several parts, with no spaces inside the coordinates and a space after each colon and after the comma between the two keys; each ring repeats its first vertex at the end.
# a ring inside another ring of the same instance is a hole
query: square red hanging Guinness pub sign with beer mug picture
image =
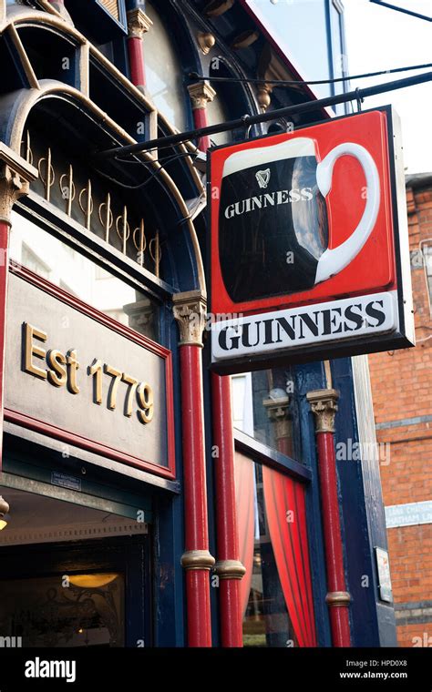
{"type": "Polygon", "coordinates": [[[211,148],[215,371],[414,345],[401,149],[391,107],[211,148]]]}

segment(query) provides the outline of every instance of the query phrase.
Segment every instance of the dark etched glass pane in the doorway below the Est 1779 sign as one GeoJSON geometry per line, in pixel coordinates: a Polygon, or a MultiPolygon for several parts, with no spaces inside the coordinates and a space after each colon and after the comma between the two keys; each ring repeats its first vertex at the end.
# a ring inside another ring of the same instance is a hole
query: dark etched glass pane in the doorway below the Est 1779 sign
{"type": "Polygon", "coordinates": [[[0,582],[0,631],[21,645],[125,646],[121,574],[54,575],[0,582]]]}

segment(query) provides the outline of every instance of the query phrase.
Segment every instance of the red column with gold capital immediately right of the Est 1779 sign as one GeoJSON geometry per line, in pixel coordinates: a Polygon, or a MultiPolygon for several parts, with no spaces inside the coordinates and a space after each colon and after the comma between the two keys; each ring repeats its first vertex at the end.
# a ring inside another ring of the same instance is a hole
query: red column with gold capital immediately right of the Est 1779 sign
{"type": "Polygon", "coordinates": [[[181,425],[185,504],[185,552],[188,645],[211,646],[210,570],[205,471],[201,335],[206,301],[201,291],[173,296],[180,328],[181,425]]]}

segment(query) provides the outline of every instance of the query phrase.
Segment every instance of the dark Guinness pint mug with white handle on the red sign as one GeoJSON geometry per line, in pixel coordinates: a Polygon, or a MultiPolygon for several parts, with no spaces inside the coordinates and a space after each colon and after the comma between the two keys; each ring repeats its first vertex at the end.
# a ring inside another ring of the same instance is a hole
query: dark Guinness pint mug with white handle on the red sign
{"type": "Polygon", "coordinates": [[[379,201],[374,159],[353,142],[333,148],[319,163],[314,139],[307,137],[231,154],[223,167],[219,211],[221,275],[231,300],[310,290],[345,269],[374,229],[379,201]],[[334,163],[345,155],[364,170],[365,210],[349,238],[329,249],[325,197],[334,163]]]}

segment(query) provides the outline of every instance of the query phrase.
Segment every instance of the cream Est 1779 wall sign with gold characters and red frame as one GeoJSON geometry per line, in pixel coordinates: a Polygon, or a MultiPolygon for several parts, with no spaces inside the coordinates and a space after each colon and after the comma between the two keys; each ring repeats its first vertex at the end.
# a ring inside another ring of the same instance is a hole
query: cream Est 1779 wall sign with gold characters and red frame
{"type": "Polygon", "coordinates": [[[24,269],[7,310],[5,418],[173,477],[170,351],[24,269]]]}

